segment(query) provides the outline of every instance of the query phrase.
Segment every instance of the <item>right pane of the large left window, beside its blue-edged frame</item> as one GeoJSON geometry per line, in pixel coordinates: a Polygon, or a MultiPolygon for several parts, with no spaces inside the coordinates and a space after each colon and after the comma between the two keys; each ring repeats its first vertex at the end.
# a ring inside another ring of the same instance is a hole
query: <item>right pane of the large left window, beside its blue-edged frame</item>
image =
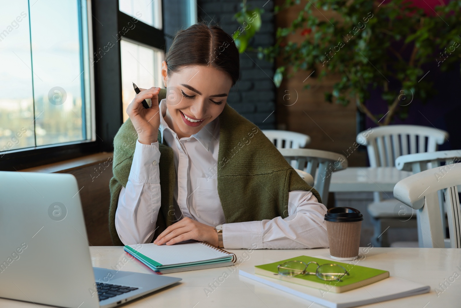
{"type": "Polygon", "coordinates": [[[47,0],[30,8],[36,145],[86,139],[78,5],[47,0]]]}

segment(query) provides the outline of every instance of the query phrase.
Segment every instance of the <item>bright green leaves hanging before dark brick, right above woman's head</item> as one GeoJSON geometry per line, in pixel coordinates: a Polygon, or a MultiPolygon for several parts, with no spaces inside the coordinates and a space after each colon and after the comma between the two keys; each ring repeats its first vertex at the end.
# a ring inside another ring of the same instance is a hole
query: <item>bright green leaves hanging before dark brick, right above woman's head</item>
{"type": "Polygon", "coordinates": [[[232,19],[235,19],[241,26],[232,34],[232,38],[238,52],[243,53],[250,39],[261,29],[261,14],[264,13],[264,10],[258,7],[248,10],[247,0],[243,0],[240,6],[242,10],[237,12],[232,19]]]}

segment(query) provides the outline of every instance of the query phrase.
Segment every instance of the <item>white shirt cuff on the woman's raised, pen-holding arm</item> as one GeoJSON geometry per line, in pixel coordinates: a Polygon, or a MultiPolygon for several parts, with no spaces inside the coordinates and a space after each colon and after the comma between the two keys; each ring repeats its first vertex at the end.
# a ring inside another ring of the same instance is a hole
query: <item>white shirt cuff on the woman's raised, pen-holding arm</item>
{"type": "Polygon", "coordinates": [[[143,183],[160,183],[159,142],[145,145],[136,140],[129,178],[131,181],[143,183]]]}

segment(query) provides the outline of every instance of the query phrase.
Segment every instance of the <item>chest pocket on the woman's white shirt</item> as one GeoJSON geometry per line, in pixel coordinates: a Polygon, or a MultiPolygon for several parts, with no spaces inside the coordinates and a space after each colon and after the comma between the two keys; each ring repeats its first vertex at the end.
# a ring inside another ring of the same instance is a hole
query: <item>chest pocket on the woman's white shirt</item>
{"type": "Polygon", "coordinates": [[[201,220],[218,225],[225,221],[218,194],[217,178],[197,178],[195,191],[195,212],[201,220]]]}

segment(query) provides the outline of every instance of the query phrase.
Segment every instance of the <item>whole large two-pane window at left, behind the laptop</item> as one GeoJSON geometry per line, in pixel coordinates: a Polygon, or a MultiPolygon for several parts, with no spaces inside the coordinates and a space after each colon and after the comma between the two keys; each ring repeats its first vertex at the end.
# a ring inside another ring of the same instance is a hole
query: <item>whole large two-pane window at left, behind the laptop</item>
{"type": "Polygon", "coordinates": [[[88,9],[84,0],[1,2],[0,157],[95,140],[88,9]]]}

